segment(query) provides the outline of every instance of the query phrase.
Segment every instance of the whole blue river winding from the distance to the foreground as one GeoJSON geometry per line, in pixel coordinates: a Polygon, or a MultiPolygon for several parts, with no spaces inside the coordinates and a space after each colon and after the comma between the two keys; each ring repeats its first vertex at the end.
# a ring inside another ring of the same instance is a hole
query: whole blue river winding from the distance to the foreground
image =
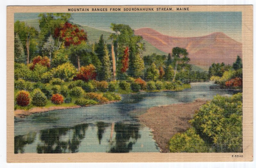
{"type": "Polygon", "coordinates": [[[127,94],[116,103],[15,118],[14,152],[159,152],[152,132],[138,122],[136,115],[154,106],[233,94],[216,86],[212,82],[191,83],[190,89],[179,92],[127,94]]]}

